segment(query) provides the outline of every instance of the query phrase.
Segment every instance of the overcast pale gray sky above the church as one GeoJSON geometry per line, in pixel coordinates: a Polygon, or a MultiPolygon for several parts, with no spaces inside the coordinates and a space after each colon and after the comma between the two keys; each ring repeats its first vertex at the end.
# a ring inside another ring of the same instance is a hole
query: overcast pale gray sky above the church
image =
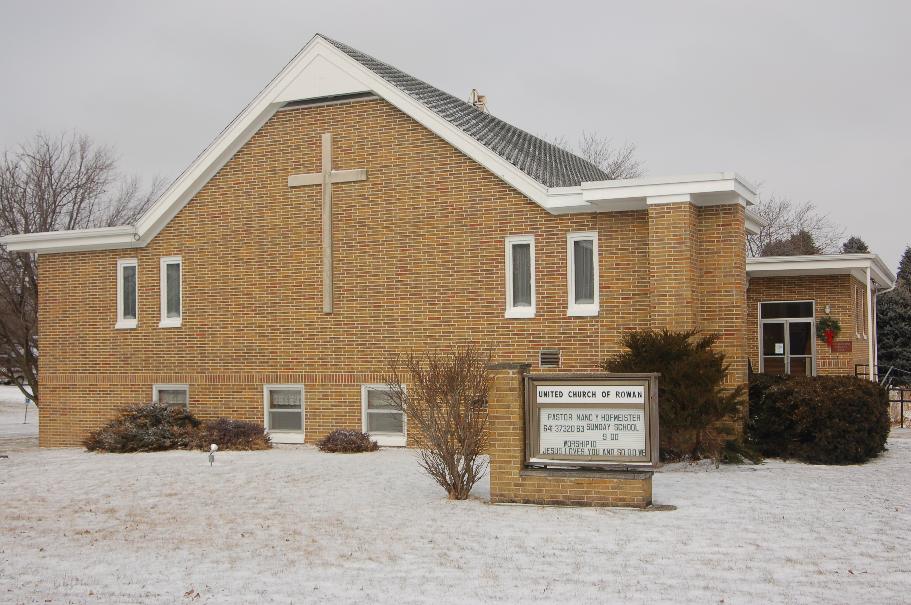
{"type": "Polygon", "coordinates": [[[911,244],[909,2],[8,2],[0,146],[78,128],[176,177],[319,32],[539,136],[736,170],[896,270],[911,244]]]}

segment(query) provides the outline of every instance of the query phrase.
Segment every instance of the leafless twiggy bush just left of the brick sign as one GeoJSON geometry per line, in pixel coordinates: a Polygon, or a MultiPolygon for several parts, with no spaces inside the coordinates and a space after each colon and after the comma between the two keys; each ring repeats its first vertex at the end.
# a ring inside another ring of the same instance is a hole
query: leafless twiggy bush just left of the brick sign
{"type": "Polygon", "coordinates": [[[425,473],[449,498],[464,500],[486,474],[487,390],[492,349],[466,344],[386,360],[383,381],[405,413],[425,473]]]}

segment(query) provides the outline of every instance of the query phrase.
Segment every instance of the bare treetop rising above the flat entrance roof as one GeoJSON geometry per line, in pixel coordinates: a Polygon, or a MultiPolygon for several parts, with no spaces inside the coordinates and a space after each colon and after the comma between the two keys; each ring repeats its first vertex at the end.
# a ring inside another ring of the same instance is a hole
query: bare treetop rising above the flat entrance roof
{"type": "Polygon", "coordinates": [[[816,254],[839,252],[844,227],[833,223],[829,215],[817,213],[811,202],[795,204],[790,198],[773,193],[770,197],[759,197],[750,210],[769,222],[769,227],[761,228],[759,235],[747,236],[747,254],[751,257],[813,253],[807,251],[804,234],[812,237],[812,244],[818,248],[816,254]]]}

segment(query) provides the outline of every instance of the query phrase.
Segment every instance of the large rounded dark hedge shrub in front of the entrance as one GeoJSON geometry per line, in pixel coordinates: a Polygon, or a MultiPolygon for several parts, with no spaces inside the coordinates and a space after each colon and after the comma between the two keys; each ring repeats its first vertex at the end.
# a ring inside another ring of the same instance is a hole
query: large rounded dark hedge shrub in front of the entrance
{"type": "Polygon", "coordinates": [[[885,451],[885,388],[853,376],[753,374],[749,443],[766,456],[856,464],[885,451]]]}

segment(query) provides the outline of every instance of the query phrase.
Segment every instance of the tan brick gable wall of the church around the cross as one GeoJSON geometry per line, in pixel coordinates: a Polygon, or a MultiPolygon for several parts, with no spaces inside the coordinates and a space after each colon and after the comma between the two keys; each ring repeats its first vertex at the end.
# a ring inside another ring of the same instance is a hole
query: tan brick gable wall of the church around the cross
{"type": "MultiPolygon", "coordinates": [[[[704,235],[720,217],[742,231],[742,209],[687,211],[695,236],[680,245],[690,257],[711,250],[726,267],[706,273],[705,258],[686,267],[714,292],[691,290],[692,321],[721,329],[732,358],[744,358],[742,313],[712,302],[740,304],[739,260],[704,235]]],[[[39,257],[41,445],[75,445],[116,408],[150,400],[153,383],[189,384],[200,418],[257,422],[262,384],[302,383],[312,442],[360,428],[360,386],[379,381],[387,351],[465,339],[493,342],[496,361],[537,368],[538,350],[558,348],[554,371],[595,371],[620,330],[664,320],[650,312],[650,220],[647,211],[552,216],[382,100],[281,111],[147,247],[39,257]],[[369,172],[333,188],[331,316],[322,314],[320,187],[287,187],[289,175],[319,172],[324,132],[333,168],[369,172]],[[601,314],[568,318],[566,235],[589,230],[599,232],[601,314]],[[537,317],[505,319],[503,238],[520,234],[536,237],[537,317]],[[183,325],[158,328],[159,257],[172,255],[183,259],[183,325]],[[132,257],[138,328],[115,330],[117,260],[132,257]]],[[[666,245],[668,259],[677,246],[666,245]]]]}

